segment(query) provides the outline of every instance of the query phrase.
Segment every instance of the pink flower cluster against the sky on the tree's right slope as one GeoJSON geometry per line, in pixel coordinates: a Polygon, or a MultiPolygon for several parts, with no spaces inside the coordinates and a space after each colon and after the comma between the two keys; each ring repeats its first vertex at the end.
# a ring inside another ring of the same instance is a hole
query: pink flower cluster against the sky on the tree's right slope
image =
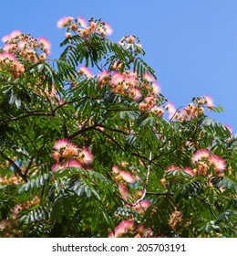
{"type": "Polygon", "coordinates": [[[169,119],[178,120],[180,122],[188,121],[196,118],[200,114],[204,113],[204,106],[209,110],[214,107],[211,96],[206,95],[198,99],[194,99],[187,107],[181,111],[177,111],[172,102],[169,102],[166,106],[166,110],[169,112],[169,119]]]}

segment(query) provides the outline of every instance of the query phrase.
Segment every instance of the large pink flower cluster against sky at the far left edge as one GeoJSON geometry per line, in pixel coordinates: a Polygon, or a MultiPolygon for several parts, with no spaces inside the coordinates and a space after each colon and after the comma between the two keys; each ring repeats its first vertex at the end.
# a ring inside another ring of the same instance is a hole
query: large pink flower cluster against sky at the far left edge
{"type": "Polygon", "coordinates": [[[46,37],[36,39],[20,30],[14,30],[2,38],[5,46],[0,53],[0,69],[9,69],[15,78],[25,72],[25,66],[17,58],[33,62],[45,60],[50,53],[50,43],[46,37]]]}

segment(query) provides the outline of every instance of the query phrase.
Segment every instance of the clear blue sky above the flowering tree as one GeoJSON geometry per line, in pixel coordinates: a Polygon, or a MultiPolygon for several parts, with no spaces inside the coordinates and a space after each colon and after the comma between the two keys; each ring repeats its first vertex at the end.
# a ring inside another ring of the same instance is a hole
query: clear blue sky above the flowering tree
{"type": "Polygon", "coordinates": [[[180,107],[210,94],[225,110],[211,117],[237,133],[236,0],[2,1],[0,37],[15,28],[45,36],[58,57],[65,31],[56,25],[62,16],[102,18],[116,41],[137,35],[169,101],[180,107]]]}

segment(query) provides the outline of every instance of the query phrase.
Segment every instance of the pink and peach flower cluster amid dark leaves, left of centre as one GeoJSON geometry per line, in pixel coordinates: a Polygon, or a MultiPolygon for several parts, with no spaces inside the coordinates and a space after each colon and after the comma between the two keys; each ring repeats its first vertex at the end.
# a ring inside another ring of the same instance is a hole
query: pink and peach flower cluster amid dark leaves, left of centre
{"type": "Polygon", "coordinates": [[[78,148],[68,139],[59,139],[54,145],[53,158],[56,164],[51,171],[55,172],[67,167],[83,167],[91,164],[93,155],[88,147],[78,148]]]}

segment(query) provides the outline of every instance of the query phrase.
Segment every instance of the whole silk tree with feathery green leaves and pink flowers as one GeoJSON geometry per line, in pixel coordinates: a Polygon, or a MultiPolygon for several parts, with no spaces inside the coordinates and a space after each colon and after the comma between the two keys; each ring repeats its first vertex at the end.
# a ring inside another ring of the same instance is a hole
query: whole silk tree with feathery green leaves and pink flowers
{"type": "Polygon", "coordinates": [[[1,237],[236,237],[237,135],[180,109],[139,38],[66,16],[59,59],[19,30],[0,48],[1,237]]]}

